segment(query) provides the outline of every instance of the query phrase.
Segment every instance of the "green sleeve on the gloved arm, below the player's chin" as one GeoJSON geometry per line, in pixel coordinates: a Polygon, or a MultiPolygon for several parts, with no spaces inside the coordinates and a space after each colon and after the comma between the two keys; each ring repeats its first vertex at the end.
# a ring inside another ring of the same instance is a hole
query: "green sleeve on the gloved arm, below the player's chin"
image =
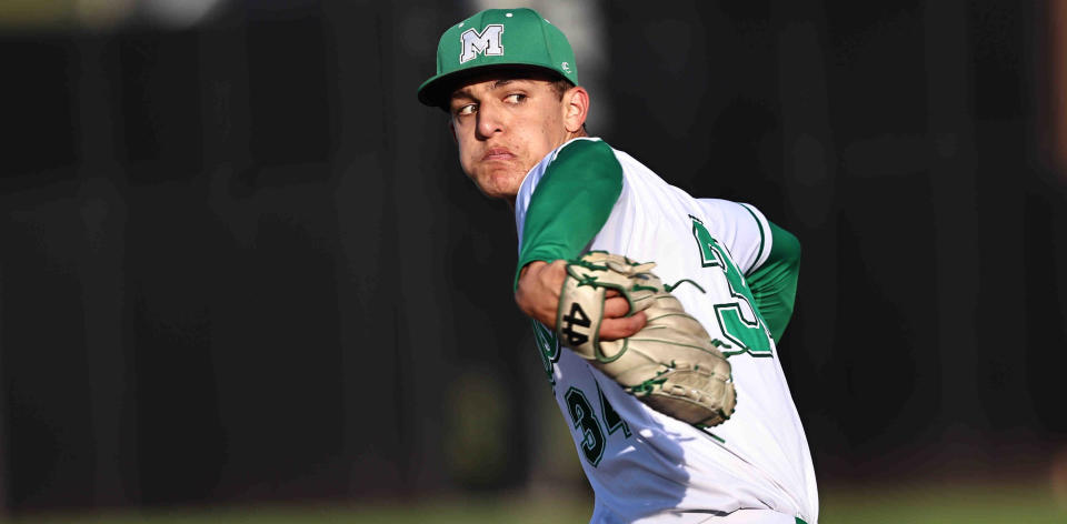
{"type": "Polygon", "coordinates": [[[622,192],[622,167],[600,140],[575,140],[559,150],[534,190],[515,271],[536,260],[574,259],[596,236],[622,192]]]}

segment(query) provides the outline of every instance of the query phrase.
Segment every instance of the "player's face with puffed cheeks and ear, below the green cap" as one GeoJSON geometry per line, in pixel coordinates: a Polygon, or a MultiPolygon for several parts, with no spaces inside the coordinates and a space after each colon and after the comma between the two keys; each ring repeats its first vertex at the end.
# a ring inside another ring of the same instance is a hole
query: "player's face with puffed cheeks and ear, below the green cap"
{"type": "Polygon", "coordinates": [[[487,196],[513,202],[526,173],[571,137],[567,105],[548,80],[477,79],[460,87],[449,111],[463,172],[487,196]]]}

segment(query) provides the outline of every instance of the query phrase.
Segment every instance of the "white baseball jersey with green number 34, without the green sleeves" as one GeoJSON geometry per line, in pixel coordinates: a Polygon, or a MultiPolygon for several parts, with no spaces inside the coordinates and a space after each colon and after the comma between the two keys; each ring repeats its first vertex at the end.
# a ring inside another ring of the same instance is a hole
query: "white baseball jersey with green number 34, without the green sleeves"
{"type": "MultiPolygon", "coordinates": [[[[560,150],[527,174],[516,199],[522,245],[527,209],[560,150]]],[[[770,226],[755,208],[694,199],[625,152],[622,189],[587,249],[657,263],[674,294],[729,355],[737,407],[700,430],[660,414],[587,361],[560,347],[551,330],[535,333],[556,401],[596,492],[592,522],[782,522],[818,518],[807,440],[777,347],[754,311],[742,275],[770,252],[770,226]],[[739,272],[740,274],[731,274],[739,272]],[[710,518],[710,521],[709,521],[710,518]]]]}

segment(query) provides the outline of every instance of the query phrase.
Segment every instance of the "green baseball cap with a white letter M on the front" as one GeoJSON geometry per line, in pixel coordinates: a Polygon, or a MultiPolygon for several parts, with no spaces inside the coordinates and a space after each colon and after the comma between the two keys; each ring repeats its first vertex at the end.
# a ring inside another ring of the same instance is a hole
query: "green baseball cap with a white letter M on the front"
{"type": "Polygon", "coordinates": [[[500,66],[551,71],[578,85],[567,37],[532,9],[487,9],[448,28],[437,44],[437,74],[419,87],[419,101],[443,107],[445,88],[500,66]]]}

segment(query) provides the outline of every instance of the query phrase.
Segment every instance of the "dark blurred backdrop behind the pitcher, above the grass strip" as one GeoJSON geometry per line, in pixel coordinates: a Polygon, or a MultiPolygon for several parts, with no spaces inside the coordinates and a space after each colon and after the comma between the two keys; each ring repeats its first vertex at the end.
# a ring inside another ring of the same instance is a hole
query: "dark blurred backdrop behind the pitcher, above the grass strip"
{"type": "MultiPolygon", "coordinates": [[[[532,6],[594,134],[800,239],[820,487],[1046,475],[1067,1],[889,3],[532,6]]],[[[513,219],[415,97],[483,7],[0,2],[0,507],[585,486],[513,219]]]]}

